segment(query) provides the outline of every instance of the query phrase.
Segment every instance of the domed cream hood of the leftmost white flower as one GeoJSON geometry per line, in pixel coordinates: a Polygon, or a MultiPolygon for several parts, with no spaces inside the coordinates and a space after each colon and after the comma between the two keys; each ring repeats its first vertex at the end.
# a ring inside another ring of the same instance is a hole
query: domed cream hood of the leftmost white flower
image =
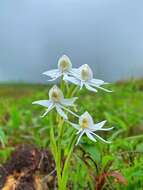
{"type": "Polygon", "coordinates": [[[53,102],[60,102],[63,98],[63,92],[56,85],[49,90],[49,99],[53,102]]]}

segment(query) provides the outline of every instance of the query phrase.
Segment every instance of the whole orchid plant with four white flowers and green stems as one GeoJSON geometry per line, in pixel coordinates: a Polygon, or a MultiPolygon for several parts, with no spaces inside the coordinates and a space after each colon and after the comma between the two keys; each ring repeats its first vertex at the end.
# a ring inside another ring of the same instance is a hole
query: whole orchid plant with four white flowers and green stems
{"type": "Polygon", "coordinates": [[[45,107],[46,110],[42,117],[47,116],[50,114],[49,112],[51,112],[51,114],[57,114],[59,118],[58,128],[54,128],[52,126],[50,128],[50,147],[56,165],[58,189],[65,190],[68,183],[68,168],[70,158],[74,151],[74,147],[80,144],[82,136],[86,135],[87,138],[89,138],[94,143],[98,139],[103,143],[111,143],[96,134],[96,131],[110,131],[113,129],[113,127],[103,128],[106,121],[101,121],[95,124],[88,111],[85,111],[85,113],[83,113],[81,116],[77,113],[77,111],[75,113],[75,102],[78,97],[71,96],[74,96],[78,90],[81,90],[83,87],[94,93],[97,92],[97,89],[101,89],[106,92],[111,91],[102,87],[102,85],[107,83],[105,83],[103,80],[95,79],[93,77],[93,71],[89,65],[85,64],[79,68],[72,68],[72,62],[66,55],[63,55],[59,58],[57,69],[46,71],[43,74],[49,77],[49,81],[55,81],[59,78],[61,79],[61,89],[54,85],[49,90],[48,100],[37,100],[34,101],[33,104],[38,104],[45,107]],[[70,90],[69,83],[75,85],[74,90],[70,90]],[[65,91],[65,89],[68,90],[64,94],[63,91],[65,91]],[[66,96],[68,97],[65,98],[66,96]],[[56,110],[56,112],[52,110],[56,110]],[[72,115],[71,118],[75,117],[74,120],[77,120],[78,123],[72,122],[69,119],[69,114],[72,115]],[[73,132],[68,137],[69,143],[66,147],[66,153],[63,155],[62,139],[65,136],[64,133],[67,132],[67,127],[72,127],[73,132]]]}

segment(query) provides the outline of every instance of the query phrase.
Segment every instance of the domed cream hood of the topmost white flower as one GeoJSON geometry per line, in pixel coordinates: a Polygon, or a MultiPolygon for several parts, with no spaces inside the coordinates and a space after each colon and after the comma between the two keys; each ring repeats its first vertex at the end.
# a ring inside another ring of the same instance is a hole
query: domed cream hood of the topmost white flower
{"type": "Polygon", "coordinates": [[[67,72],[72,68],[72,63],[71,60],[69,59],[68,56],[63,55],[62,57],[59,58],[58,60],[58,69],[63,73],[67,72]]]}

